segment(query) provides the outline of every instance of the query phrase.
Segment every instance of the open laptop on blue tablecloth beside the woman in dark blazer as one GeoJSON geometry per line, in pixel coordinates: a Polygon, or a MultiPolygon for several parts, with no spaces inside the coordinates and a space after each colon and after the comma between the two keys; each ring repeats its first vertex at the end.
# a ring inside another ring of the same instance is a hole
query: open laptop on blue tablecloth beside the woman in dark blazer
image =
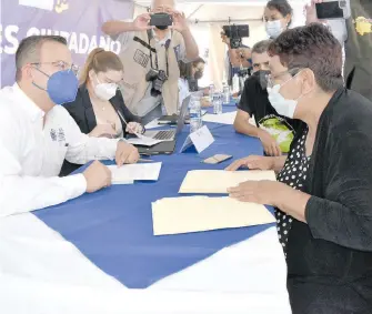
{"type": "Polygon", "coordinates": [[[177,135],[181,133],[184,126],[185,115],[188,113],[188,108],[191,97],[188,97],[183,100],[181,112],[178,118],[177,129],[175,130],[164,130],[164,131],[145,131],[144,136],[152,138],[155,140],[162,140],[159,144],[155,144],[151,148],[135,145],[140,154],[155,155],[155,154],[171,154],[175,149],[177,135]]]}

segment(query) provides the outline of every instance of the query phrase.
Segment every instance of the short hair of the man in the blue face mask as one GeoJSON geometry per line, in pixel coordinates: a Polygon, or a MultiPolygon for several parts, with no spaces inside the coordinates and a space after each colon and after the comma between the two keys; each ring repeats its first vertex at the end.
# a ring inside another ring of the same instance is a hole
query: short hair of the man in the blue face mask
{"type": "Polygon", "coordinates": [[[54,41],[67,45],[67,40],[61,36],[30,36],[23,38],[16,52],[16,80],[21,79],[21,69],[27,63],[39,62],[40,48],[47,41],[54,41]]]}

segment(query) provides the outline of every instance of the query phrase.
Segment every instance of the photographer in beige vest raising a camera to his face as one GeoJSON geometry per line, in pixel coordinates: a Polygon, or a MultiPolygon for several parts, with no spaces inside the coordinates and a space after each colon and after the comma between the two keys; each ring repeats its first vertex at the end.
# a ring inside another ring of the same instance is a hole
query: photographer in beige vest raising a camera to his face
{"type": "Polygon", "coordinates": [[[178,108],[178,62],[199,57],[183,13],[173,0],[154,0],[150,13],[134,21],[108,21],[104,33],[119,40],[125,72],[121,84],[125,104],[145,124],[178,108]]]}

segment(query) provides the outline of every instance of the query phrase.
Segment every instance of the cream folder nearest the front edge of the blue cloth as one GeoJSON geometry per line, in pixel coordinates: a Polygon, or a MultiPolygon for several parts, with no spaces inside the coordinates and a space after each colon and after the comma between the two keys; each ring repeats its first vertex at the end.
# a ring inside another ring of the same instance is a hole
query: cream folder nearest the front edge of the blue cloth
{"type": "Polygon", "coordinates": [[[153,234],[178,234],[275,222],[263,205],[231,197],[190,196],[152,203],[153,234]]]}

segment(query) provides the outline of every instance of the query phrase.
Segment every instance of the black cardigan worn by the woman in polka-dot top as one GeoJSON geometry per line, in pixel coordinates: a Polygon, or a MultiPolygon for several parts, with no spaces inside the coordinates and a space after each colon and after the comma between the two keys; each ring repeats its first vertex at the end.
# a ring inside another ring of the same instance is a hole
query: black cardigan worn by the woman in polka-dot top
{"type": "MultiPolygon", "coordinates": [[[[301,139],[302,132],[292,145],[301,139]]],[[[288,239],[293,314],[372,313],[372,103],[340,89],[322,113],[288,239]]]]}

